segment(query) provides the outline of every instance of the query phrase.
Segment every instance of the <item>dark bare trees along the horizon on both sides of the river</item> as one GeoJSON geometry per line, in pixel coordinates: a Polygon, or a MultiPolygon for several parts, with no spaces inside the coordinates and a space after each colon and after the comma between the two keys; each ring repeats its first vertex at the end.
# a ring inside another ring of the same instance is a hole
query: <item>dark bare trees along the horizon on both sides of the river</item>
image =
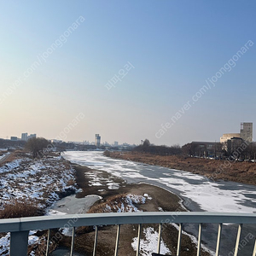
{"type": "MultiPolygon", "coordinates": [[[[0,147],[5,145],[6,140],[0,140],[0,147]]],[[[187,156],[218,156],[219,158],[233,157],[236,159],[246,159],[246,160],[255,160],[256,159],[256,143],[247,143],[245,141],[236,141],[231,143],[228,146],[227,143],[212,143],[213,148],[209,150],[207,143],[187,143],[180,147],[179,145],[173,145],[167,147],[165,145],[156,146],[151,144],[148,139],[143,141],[143,144],[135,147],[132,151],[142,152],[148,154],[158,154],[158,155],[173,155],[173,154],[183,154],[187,156]],[[211,155],[210,155],[211,154],[211,155]]],[[[24,146],[24,142],[20,144],[24,146]]],[[[49,152],[57,151],[62,152],[66,149],[73,150],[86,150],[92,147],[91,145],[79,145],[79,148],[76,148],[73,143],[51,143],[43,137],[32,137],[29,139],[26,144],[26,150],[32,153],[33,158],[44,157],[49,154],[49,152]]],[[[94,146],[95,147],[95,146],[94,146]]]]}

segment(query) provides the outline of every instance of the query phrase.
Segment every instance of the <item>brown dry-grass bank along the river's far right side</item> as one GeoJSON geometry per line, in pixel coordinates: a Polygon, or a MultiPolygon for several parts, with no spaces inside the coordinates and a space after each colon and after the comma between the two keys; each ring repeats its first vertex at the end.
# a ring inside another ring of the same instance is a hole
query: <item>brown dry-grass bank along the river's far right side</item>
{"type": "Polygon", "coordinates": [[[131,160],[153,166],[192,172],[211,180],[222,179],[236,183],[256,185],[256,163],[230,160],[207,160],[182,155],[155,155],[138,152],[106,151],[113,159],[131,160]]]}

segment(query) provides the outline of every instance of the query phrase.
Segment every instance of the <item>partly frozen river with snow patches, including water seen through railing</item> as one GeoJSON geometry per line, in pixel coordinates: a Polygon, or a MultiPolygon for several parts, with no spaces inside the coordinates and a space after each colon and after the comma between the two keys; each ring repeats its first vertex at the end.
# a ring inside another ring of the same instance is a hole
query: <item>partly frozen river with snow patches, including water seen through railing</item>
{"type": "MultiPolygon", "coordinates": [[[[167,189],[178,195],[189,211],[256,213],[256,187],[253,185],[224,181],[213,182],[190,172],[111,159],[105,157],[101,151],[67,151],[63,156],[81,166],[110,172],[114,176],[125,179],[127,183],[150,183],[167,189]]],[[[207,232],[203,232],[202,240],[214,251],[217,225],[207,225],[206,229],[207,232]]],[[[195,226],[190,224],[185,226],[185,230],[193,234],[197,232],[195,226]]],[[[224,225],[221,255],[233,255],[236,231],[237,226],[224,225]]],[[[243,246],[241,245],[241,255],[252,255],[255,235],[255,227],[243,226],[241,241],[245,237],[247,239],[246,245],[244,243],[243,246]],[[252,234],[253,238],[248,239],[252,237],[248,234],[252,234]]]]}

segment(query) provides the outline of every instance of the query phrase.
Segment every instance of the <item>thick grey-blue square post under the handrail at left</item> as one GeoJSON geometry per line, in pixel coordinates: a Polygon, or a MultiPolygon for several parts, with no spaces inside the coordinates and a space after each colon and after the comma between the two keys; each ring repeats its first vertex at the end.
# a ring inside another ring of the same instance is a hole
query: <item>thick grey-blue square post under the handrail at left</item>
{"type": "Polygon", "coordinates": [[[29,231],[18,231],[10,233],[9,256],[26,256],[28,232],[29,231]]]}

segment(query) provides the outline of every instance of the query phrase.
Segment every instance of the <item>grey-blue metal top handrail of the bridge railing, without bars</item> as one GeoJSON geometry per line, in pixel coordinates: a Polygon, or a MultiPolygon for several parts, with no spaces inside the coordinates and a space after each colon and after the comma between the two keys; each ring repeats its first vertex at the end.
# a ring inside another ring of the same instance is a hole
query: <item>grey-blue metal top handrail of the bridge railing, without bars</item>
{"type": "Polygon", "coordinates": [[[111,224],[256,224],[256,214],[231,212],[111,212],[0,219],[0,232],[111,224]]]}

